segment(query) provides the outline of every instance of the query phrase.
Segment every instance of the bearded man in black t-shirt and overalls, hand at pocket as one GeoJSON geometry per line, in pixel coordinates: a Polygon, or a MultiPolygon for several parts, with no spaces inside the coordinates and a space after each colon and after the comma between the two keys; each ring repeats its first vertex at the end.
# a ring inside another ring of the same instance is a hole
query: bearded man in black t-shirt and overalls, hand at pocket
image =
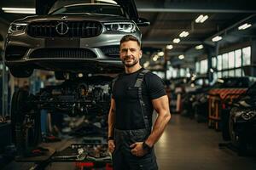
{"type": "Polygon", "coordinates": [[[158,169],[153,146],[171,118],[160,77],[142,68],[141,44],[127,35],[120,40],[125,73],[113,81],[108,113],[108,149],[114,170],[158,169]],[[153,111],[158,113],[152,126],[153,111]]]}

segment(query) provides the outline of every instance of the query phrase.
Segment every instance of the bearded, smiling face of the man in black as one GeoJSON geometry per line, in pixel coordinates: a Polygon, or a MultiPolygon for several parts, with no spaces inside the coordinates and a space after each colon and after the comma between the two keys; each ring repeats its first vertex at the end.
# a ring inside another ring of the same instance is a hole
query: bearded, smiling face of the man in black
{"type": "Polygon", "coordinates": [[[123,42],[120,45],[120,59],[126,67],[139,65],[142,50],[135,41],[123,42]]]}

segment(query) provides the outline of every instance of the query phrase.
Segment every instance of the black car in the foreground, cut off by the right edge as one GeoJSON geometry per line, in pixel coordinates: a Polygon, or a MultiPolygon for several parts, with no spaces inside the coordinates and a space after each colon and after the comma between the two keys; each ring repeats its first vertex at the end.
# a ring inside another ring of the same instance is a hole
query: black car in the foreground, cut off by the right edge
{"type": "Polygon", "coordinates": [[[238,155],[246,155],[249,148],[256,146],[256,83],[230,110],[229,131],[231,143],[238,155]]]}

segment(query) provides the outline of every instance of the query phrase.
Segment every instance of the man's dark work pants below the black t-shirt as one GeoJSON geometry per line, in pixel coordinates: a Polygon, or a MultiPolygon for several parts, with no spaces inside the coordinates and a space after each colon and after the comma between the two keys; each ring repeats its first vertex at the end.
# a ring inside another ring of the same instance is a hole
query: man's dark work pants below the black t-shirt
{"type": "Polygon", "coordinates": [[[114,130],[115,150],[113,150],[114,170],[157,170],[158,166],[151,150],[145,156],[134,156],[131,154],[130,145],[135,142],[143,142],[148,138],[147,129],[138,130],[114,130]]]}

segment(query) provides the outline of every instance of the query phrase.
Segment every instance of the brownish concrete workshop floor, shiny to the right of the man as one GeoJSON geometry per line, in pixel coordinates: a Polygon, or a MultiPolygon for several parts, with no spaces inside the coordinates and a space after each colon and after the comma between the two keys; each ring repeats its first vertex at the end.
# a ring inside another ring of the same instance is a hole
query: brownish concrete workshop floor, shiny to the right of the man
{"type": "MultiPolygon", "coordinates": [[[[160,170],[255,170],[256,157],[237,156],[229,149],[219,149],[223,142],[221,133],[208,129],[207,124],[197,123],[189,118],[172,115],[160,141],[155,144],[160,170]]],[[[68,142],[66,142],[68,144],[68,142]]],[[[63,146],[63,144],[55,144],[63,146]]],[[[5,170],[29,169],[32,163],[7,165],[5,170]]],[[[1,169],[1,168],[0,168],[1,169]]],[[[46,167],[53,169],[75,169],[74,163],[55,162],[46,167]]]]}

